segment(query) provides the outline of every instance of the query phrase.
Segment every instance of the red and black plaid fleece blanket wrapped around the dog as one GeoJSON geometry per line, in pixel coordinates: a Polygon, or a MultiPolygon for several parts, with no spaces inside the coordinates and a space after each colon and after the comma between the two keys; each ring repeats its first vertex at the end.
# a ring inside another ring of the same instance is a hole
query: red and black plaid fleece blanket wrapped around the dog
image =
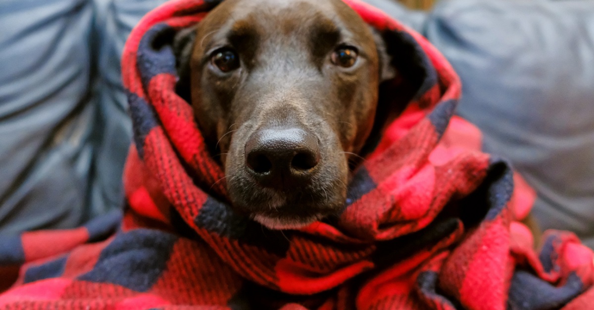
{"type": "Polygon", "coordinates": [[[216,2],[170,1],[132,31],[122,60],[134,122],[125,212],[0,238],[0,308],[592,306],[592,251],[558,231],[532,250],[519,220],[535,195],[453,116],[460,83],[450,65],[357,0],[345,2],[413,51],[410,62],[425,72],[418,94],[353,172],[338,219],[271,231],[234,213],[222,169],[175,94],[167,39],[216,2]]]}

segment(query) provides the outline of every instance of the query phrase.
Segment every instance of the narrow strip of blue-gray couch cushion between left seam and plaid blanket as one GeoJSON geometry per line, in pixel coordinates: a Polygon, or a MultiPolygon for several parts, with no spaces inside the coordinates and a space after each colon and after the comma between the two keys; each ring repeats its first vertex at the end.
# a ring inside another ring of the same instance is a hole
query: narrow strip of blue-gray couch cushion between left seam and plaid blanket
{"type": "Polygon", "coordinates": [[[120,59],[132,28],[166,0],[95,0],[94,46],[97,79],[97,147],[91,180],[90,208],[94,215],[121,207],[122,170],[132,140],[128,102],[122,85],[120,59]]]}

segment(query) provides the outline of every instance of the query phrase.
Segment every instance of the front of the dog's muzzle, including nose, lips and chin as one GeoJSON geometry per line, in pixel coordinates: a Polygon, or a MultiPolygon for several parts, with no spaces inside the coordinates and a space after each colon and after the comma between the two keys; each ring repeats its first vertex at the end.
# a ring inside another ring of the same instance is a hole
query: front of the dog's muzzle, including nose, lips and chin
{"type": "Polygon", "coordinates": [[[303,127],[241,130],[226,160],[232,206],[270,229],[296,229],[336,214],[346,200],[340,145],[303,127]]]}

